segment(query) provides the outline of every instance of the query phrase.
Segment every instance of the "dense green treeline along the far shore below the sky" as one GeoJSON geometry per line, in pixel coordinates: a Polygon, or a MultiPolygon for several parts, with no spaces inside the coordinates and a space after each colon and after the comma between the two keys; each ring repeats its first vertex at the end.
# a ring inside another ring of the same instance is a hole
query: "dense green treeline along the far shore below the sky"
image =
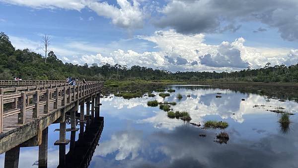
{"type": "Polygon", "coordinates": [[[40,54],[28,49],[15,50],[6,34],[0,33],[0,79],[65,80],[67,77],[87,80],[145,80],[145,81],[228,81],[228,82],[298,82],[298,64],[246,69],[236,72],[169,72],[140,66],[97,65],[88,66],[63,63],[54,52],[48,54],[47,63],[40,54]]]}

